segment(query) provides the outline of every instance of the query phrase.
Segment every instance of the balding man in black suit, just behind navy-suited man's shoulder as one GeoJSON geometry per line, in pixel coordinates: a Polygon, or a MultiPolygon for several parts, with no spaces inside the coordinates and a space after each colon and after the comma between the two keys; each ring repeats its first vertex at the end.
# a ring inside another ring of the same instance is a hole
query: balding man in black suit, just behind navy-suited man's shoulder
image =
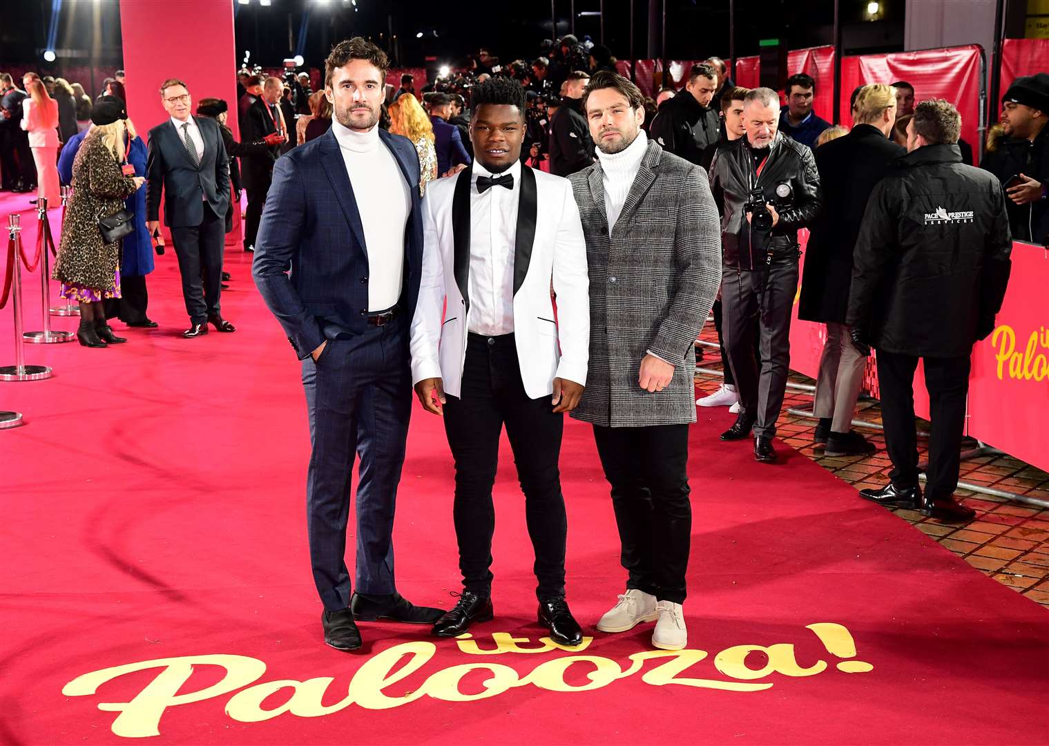
{"type": "MultiPolygon", "coordinates": [[[[262,84],[262,95],[248,107],[245,124],[242,129],[248,133],[245,142],[254,143],[269,134],[283,137],[287,142],[287,127],[280,110],[280,95],[283,83],[280,78],[266,78],[262,84]]],[[[244,250],[252,251],[255,237],[259,232],[259,220],[262,219],[262,206],[270,191],[273,178],[273,164],[280,156],[280,146],[274,145],[264,151],[240,157],[240,172],[248,192],[248,212],[244,214],[244,250]]]]}

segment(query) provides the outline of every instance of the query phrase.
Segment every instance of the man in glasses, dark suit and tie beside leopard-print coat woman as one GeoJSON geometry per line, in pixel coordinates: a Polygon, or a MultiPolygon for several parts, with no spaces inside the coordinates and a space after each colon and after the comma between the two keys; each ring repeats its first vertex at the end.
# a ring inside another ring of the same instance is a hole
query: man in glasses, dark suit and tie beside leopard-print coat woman
{"type": "Polygon", "coordinates": [[[171,119],[149,131],[146,227],[151,234],[159,230],[160,193],[167,191],[164,225],[171,229],[190,316],[183,336],[208,334],[208,322],[219,332],[234,332],[219,313],[230,206],[230,162],[222,134],[214,120],[190,114],[193,102],[180,80],[166,80],[160,99],[171,119]]]}

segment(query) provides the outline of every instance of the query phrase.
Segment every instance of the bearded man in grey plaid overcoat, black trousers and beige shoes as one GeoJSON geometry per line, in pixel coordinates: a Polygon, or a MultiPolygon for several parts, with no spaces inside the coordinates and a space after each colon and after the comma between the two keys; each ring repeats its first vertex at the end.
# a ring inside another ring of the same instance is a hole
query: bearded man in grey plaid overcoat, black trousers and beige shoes
{"type": "Polygon", "coordinates": [[[598,628],[656,620],[652,644],[680,649],[694,344],[721,283],[718,209],[704,170],[641,131],[644,100],[628,80],[598,72],[583,109],[598,163],[571,176],[591,292],[590,369],[572,417],[594,425],[627,572],[598,628]]]}

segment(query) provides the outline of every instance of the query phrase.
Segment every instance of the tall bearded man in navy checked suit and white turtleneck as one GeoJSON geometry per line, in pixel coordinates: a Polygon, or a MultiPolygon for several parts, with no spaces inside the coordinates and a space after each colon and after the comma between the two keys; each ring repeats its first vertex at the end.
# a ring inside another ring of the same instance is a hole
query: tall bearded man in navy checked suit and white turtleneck
{"type": "Polygon", "coordinates": [[[393,507],[411,411],[409,323],[423,257],[419,156],[379,128],[386,55],[364,39],[325,61],[331,129],[277,161],[252,274],[302,360],[313,453],[306,515],[324,641],[361,646],[355,619],[432,624],[393,580],[393,507]],[[291,270],[291,274],[288,274],[291,270]],[[344,554],[355,454],[357,582],[344,554]]]}

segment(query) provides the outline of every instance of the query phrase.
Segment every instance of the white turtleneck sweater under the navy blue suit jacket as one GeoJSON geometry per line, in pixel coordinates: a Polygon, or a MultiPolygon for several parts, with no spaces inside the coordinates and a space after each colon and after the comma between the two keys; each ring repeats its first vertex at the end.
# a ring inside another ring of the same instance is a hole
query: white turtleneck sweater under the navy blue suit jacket
{"type": "Polygon", "coordinates": [[[404,230],[411,212],[411,194],[397,158],[379,138],[379,126],[367,132],[333,120],[354,187],[368,254],[368,311],[386,311],[401,298],[404,279],[404,230]]]}

